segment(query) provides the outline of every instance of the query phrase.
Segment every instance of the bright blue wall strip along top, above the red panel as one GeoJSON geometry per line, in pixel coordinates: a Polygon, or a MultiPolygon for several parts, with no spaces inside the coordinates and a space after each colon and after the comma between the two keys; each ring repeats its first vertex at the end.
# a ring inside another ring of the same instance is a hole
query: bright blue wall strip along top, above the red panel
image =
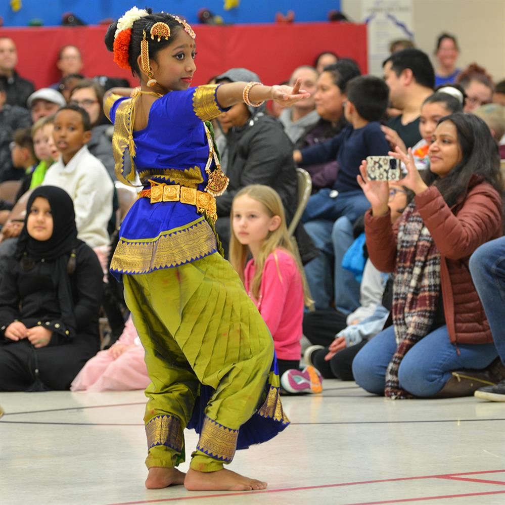
{"type": "MultiPolygon", "coordinates": [[[[197,12],[206,7],[226,23],[271,23],[277,12],[295,11],[296,21],[326,21],[328,12],[340,8],[340,0],[241,0],[238,8],[225,11],[223,0],[22,0],[21,10],[13,12],[9,0],[0,1],[5,26],[27,26],[40,19],[44,26],[61,24],[63,13],[72,12],[86,24],[118,18],[132,5],[148,5],[154,11],[167,11],[197,22],[197,12]]],[[[1,30],[1,29],[0,29],[1,30]]]]}

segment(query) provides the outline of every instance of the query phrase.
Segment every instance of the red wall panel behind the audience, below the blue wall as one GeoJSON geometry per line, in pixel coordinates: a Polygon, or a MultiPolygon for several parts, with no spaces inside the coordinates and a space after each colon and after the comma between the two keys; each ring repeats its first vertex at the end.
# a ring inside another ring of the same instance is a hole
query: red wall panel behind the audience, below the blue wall
{"type": "MultiPolygon", "coordinates": [[[[105,49],[105,26],[72,28],[3,28],[0,36],[17,45],[17,70],[36,88],[59,80],[56,58],[59,48],[74,44],[82,52],[86,76],[108,75],[135,80],[112,61],[105,49]]],[[[365,25],[341,23],[295,23],[235,26],[196,25],[197,73],[194,84],[202,84],[228,68],[246,67],[268,84],[286,80],[299,65],[312,64],[322,51],[354,58],[366,73],[365,25]]]]}

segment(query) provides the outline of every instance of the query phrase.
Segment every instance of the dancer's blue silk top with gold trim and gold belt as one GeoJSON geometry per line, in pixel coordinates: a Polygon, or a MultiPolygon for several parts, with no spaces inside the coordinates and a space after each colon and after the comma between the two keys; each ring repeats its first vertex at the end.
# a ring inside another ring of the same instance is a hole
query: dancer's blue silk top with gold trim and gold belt
{"type": "Polygon", "coordinates": [[[114,123],[116,176],[140,179],[140,193],[121,223],[111,271],[148,273],[195,261],[217,251],[215,197],[227,178],[221,172],[211,126],[221,109],[216,85],[170,91],[156,100],[146,128],[133,131],[133,98],[111,95],[104,106],[114,123]],[[210,126],[210,127],[209,127],[210,126]]]}

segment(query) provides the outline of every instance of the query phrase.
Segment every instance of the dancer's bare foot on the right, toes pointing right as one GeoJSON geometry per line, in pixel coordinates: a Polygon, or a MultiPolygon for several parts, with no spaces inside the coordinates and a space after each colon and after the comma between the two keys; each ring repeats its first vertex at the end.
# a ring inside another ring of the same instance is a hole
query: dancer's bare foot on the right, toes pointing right
{"type": "Polygon", "coordinates": [[[249,479],[231,470],[198,472],[190,468],[184,479],[188,491],[252,491],[266,489],[266,482],[249,479]]]}

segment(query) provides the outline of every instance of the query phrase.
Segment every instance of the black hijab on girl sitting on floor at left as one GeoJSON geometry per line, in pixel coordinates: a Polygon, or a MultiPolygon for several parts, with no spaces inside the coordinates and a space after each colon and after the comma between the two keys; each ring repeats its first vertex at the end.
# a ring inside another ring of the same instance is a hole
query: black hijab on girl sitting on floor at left
{"type": "Polygon", "coordinates": [[[70,331],[70,337],[75,335],[75,317],[69,273],[75,267],[75,250],[80,244],[82,241],[77,239],[74,203],[70,195],[55,186],[39,186],[33,190],[26,204],[25,225],[19,237],[16,257],[24,270],[33,268],[34,263],[41,260],[52,269],[51,278],[56,283],[61,318],[70,331]],[[48,200],[53,216],[53,235],[46,241],[35,240],[28,234],[28,216],[37,197],[48,200]]]}

